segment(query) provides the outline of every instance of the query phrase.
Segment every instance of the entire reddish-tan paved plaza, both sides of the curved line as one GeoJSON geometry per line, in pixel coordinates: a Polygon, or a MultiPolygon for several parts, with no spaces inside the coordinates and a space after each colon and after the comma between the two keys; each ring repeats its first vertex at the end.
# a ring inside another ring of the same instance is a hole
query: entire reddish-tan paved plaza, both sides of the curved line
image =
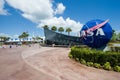
{"type": "Polygon", "coordinates": [[[68,48],[0,49],[0,80],[120,80],[120,73],[95,69],[68,58],[68,48]]]}

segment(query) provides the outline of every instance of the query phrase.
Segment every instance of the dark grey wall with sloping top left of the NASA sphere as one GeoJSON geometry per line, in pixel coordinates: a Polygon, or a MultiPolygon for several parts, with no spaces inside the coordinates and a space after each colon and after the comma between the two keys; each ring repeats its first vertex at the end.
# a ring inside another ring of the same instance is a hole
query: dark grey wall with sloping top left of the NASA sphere
{"type": "Polygon", "coordinates": [[[46,44],[51,45],[81,45],[80,37],[60,34],[49,29],[44,29],[46,44]]]}

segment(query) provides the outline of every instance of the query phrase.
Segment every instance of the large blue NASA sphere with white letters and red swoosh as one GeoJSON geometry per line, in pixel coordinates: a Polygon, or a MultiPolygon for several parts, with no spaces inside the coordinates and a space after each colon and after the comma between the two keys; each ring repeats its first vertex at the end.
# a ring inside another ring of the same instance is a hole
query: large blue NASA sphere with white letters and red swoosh
{"type": "Polygon", "coordinates": [[[106,46],[112,37],[112,28],[108,20],[100,19],[88,21],[80,31],[85,45],[93,48],[106,46]]]}

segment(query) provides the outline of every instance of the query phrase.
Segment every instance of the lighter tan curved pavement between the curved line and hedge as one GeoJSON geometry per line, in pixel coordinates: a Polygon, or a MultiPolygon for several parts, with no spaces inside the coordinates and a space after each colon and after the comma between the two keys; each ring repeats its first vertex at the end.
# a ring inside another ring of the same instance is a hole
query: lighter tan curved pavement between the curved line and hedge
{"type": "Polygon", "coordinates": [[[69,59],[68,48],[43,48],[39,51],[24,58],[25,62],[57,80],[120,80],[118,72],[87,67],[69,59]]]}

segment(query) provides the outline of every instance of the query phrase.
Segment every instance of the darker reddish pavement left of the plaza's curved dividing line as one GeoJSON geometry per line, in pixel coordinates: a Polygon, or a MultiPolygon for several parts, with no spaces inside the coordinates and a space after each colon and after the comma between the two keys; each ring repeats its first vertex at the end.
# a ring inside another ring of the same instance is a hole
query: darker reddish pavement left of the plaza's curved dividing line
{"type": "Polygon", "coordinates": [[[0,80],[56,80],[24,62],[21,53],[36,48],[24,46],[0,49],[0,80]]]}

